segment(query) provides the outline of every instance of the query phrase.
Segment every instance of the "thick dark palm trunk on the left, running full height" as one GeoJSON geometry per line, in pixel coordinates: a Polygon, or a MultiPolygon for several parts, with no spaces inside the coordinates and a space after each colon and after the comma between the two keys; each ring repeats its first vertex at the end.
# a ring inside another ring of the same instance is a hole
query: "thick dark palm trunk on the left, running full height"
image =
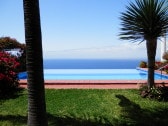
{"type": "Polygon", "coordinates": [[[28,125],[47,126],[39,1],[23,0],[23,6],[28,74],[28,125]]]}

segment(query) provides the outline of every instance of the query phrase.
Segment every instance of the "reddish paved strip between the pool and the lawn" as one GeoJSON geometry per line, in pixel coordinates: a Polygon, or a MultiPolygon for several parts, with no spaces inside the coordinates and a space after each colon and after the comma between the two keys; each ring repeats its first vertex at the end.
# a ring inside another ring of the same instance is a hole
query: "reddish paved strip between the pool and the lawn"
{"type": "MultiPolygon", "coordinates": [[[[138,89],[144,80],[47,80],[45,88],[49,89],[138,89]]],[[[165,83],[168,80],[158,80],[157,84],[165,83]]],[[[27,81],[21,80],[20,86],[27,88],[27,81]]]]}

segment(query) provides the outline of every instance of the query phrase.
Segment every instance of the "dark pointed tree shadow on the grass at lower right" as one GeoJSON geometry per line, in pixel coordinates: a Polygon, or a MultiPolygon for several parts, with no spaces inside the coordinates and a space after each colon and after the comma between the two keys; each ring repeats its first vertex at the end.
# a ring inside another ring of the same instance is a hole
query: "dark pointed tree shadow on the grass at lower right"
{"type": "Polygon", "coordinates": [[[168,109],[142,109],[123,95],[116,95],[116,97],[120,99],[119,106],[122,107],[120,125],[167,126],[168,109]]]}

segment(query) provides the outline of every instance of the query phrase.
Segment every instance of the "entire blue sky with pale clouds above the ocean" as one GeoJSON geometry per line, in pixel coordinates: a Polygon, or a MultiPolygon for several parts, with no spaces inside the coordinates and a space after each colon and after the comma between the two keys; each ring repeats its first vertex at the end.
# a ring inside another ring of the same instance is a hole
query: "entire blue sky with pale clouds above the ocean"
{"type": "MultiPolygon", "coordinates": [[[[120,40],[130,0],[39,0],[45,59],[146,59],[146,43],[120,40]]],[[[0,0],[0,37],[25,43],[23,0],[0,0]]],[[[160,58],[160,41],[156,59],[160,58]]]]}

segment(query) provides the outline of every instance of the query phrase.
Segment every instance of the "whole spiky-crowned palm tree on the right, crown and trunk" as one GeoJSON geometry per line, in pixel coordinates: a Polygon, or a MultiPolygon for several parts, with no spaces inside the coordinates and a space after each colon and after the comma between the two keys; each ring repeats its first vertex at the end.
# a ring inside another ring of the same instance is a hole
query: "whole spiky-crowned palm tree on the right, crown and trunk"
{"type": "Polygon", "coordinates": [[[146,40],[148,57],[148,88],[154,86],[154,68],[157,39],[168,28],[168,6],[166,0],[135,0],[121,13],[120,39],[143,42],[146,40]]]}

